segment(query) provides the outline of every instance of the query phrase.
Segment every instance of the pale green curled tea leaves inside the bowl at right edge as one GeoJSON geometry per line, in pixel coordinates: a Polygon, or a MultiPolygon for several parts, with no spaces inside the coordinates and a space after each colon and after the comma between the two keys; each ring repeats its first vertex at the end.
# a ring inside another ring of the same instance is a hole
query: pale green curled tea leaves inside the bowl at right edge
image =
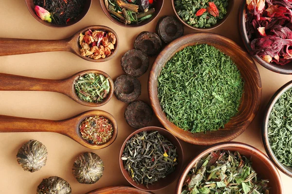
{"type": "Polygon", "coordinates": [[[292,166],[292,88],[274,104],[269,117],[268,136],[278,161],[292,166]]]}

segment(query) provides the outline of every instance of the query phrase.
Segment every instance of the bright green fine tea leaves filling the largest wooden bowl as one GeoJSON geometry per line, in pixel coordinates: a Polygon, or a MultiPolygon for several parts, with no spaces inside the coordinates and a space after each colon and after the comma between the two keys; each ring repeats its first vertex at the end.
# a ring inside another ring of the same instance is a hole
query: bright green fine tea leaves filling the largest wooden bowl
{"type": "Polygon", "coordinates": [[[213,46],[190,46],[162,68],[158,97],[167,119],[191,132],[218,130],[238,112],[243,81],[231,58],[213,46]]]}

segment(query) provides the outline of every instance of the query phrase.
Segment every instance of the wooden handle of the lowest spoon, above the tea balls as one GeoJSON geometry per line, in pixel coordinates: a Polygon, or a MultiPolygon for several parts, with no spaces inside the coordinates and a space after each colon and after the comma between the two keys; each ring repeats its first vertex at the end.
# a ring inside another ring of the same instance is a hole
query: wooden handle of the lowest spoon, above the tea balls
{"type": "Polygon", "coordinates": [[[62,121],[0,115],[0,132],[57,132],[64,129],[62,121]]]}

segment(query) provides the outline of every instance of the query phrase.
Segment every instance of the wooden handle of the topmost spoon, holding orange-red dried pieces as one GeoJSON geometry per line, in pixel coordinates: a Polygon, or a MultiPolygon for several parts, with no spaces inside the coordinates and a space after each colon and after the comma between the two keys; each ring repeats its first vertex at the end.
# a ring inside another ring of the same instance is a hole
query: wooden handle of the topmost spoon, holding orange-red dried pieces
{"type": "Polygon", "coordinates": [[[70,51],[68,40],[0,38],[0,56],[48,51],[70,51]]]}

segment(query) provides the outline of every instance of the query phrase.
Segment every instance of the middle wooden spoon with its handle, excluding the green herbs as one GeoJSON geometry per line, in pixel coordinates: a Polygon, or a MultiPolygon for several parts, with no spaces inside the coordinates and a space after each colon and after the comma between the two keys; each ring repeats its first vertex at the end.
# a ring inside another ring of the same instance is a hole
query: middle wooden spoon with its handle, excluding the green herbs
{"type": "Polygon", "coordinates": [[[0,91],[49,91],[49,92],[58,92],[71,97],[73,100],[79,104],[91,107],[98,107],[106,104],[113,94],[113,81],[108,74],[99,70],[85,70],[74,74],[73,76],[63,79],[63,80],[47,80],[47,79],[38,79],[30,78],[24,76],[17,76],[11,74],[0,73],[0,91]],[[98,103],[86,102],[81,100],[75,93],[74,83],[79,79],[80,76],[83,76],[87,73],[98,73],[102,74],[106,78],[109,78],[110,82],[110,92],[108,96],[98,103]]]}

